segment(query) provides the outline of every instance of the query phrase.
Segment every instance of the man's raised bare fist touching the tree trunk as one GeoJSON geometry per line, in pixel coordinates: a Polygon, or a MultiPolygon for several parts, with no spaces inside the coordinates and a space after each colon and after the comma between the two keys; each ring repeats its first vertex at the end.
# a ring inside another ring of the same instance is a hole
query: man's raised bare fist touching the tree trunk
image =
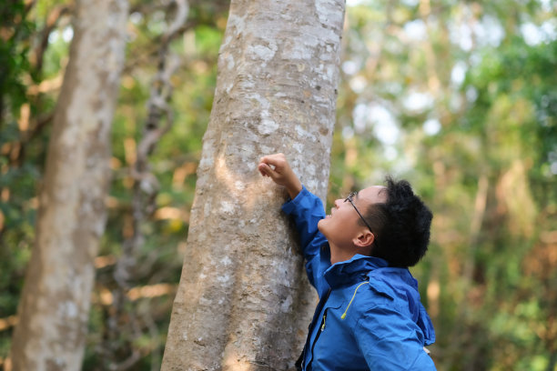
{"type": "Polygon", "coordinates": [[[261,175],[270,177],[279,186],[286,187],[291,199],[298,196],[302,190],[298,176],[294,174],[283,154],[261,157],[258,170],[261,175]]]}

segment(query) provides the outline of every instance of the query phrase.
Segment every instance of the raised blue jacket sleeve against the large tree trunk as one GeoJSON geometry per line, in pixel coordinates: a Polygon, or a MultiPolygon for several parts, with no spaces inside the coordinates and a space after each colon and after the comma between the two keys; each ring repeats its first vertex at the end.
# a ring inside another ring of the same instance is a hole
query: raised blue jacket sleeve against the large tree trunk
{"type": "Polygon", "coordinates": [[[323,278],[323,273],[330,266],[329,245],[326,245],[327,239],[318,229],[319,220],[325,217],[325,208],[318,196],[302,186],[298,196],[284,204],[282,210],[294,220],[306,258],[309,282],[320,297],[329,289],[329,284],[323,278]]]}

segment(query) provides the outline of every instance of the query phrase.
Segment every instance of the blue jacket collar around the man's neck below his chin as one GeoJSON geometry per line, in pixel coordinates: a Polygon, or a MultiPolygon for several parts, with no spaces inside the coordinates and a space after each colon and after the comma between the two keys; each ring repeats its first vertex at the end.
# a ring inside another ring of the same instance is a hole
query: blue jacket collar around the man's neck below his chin
{"type": "Polygon", "coordinates": [[[387,266],[387,261],[380,257],[356,254],[349,260],[329,266],[325,271],[325,279],[331,288],[335,288],[364,281],[370,271],[387,266]]]}

